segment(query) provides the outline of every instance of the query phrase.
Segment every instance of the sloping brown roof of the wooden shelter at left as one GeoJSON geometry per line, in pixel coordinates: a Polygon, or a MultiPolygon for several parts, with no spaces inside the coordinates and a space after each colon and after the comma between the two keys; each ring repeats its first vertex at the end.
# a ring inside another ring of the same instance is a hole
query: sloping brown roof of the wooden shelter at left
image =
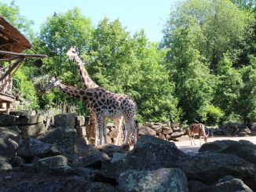
{"type": "Polygon", "coordinates": [[[0,16],[0,50],[21,53],[24,49],[31,49],[31,46],[31,43],[16,27],[0,16]]]}

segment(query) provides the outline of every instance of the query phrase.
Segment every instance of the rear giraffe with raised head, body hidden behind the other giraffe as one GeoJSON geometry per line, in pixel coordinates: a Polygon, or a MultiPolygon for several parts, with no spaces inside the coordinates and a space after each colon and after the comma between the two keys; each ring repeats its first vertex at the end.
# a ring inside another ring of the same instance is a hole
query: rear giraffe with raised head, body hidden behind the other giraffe
{"type": "MultiPolygon", "coordinates": [[[[85,64],[82,62],[81,58],[79,57],[75,47],[71,47],[70,49],[68,49],[68,52],[66,53],[66,55],[71,60],[75,60],[75,65],[79,69],[79,74],[82,79],[82,85],[85,89],[100,87],[95,82],[93,82],[93,80],[90,78],[90,75],[86,71],[85,64]]],[[[90,102],[87,104],[87,109],[89,110],[91,121],[94,124],[95,136],[97,137],[97,117],[96,117],[96,114],[93,113],[92,104],[90,102]]],[[[112,118],[112,119],[115,122],[115,127],[117,130],[117,137],[115,139],[115,145],[121,145],[121,126],[122,126],[123,117],[112,118]]],[[[104,129],[106,129],[106,128],[104,127],[104,129]]],[[[106,135],[104,135],[104,137],[106,137],[106,135]]],[[[97,146],[97,138],[95,138],[94,145],[97,146]]]]}

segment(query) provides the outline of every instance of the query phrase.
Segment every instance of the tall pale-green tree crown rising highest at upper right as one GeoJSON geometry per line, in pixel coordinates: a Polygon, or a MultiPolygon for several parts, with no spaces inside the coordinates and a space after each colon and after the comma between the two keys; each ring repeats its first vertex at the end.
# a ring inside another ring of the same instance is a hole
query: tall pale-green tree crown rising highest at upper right
{"type": "Polygon", "coordinates": [[[223,54],[229,51],[232,60],[236,60],[253,18],[247,11],[239,9],[229,0],[192,0],[181,2],[170,13],[164,29],[163,45],[171,47],[175,29],[188,24],[197,24],[199,34],[195,48],[210,63],[215,71],[223,54]]]}

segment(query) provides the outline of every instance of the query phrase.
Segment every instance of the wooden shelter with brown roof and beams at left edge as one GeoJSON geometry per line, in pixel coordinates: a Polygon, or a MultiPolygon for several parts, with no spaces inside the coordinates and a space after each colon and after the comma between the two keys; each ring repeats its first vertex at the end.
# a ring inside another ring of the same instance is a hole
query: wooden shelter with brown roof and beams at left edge
{"type": "Polygon", "coordinates": [[[31,49],[31,46],[16,27],[0,16],[0,112],[9,113],[11,109],[11,104],[15,100],[12,95],[13,74],[24,60],[31,57],[46,57],[22,53],[25,49],[31,49]]]}

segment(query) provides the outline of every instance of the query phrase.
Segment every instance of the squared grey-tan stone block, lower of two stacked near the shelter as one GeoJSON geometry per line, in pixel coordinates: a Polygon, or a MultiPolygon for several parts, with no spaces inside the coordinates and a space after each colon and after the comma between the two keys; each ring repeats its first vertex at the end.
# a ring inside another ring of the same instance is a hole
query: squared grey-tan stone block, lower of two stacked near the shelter
{"type": "Polygon", "coordinates": [[[21,136],[25,139],[27,137],[38,137],[46,132],[46,126],[43,123],[35,125],[19,125],[21,136]]]}

